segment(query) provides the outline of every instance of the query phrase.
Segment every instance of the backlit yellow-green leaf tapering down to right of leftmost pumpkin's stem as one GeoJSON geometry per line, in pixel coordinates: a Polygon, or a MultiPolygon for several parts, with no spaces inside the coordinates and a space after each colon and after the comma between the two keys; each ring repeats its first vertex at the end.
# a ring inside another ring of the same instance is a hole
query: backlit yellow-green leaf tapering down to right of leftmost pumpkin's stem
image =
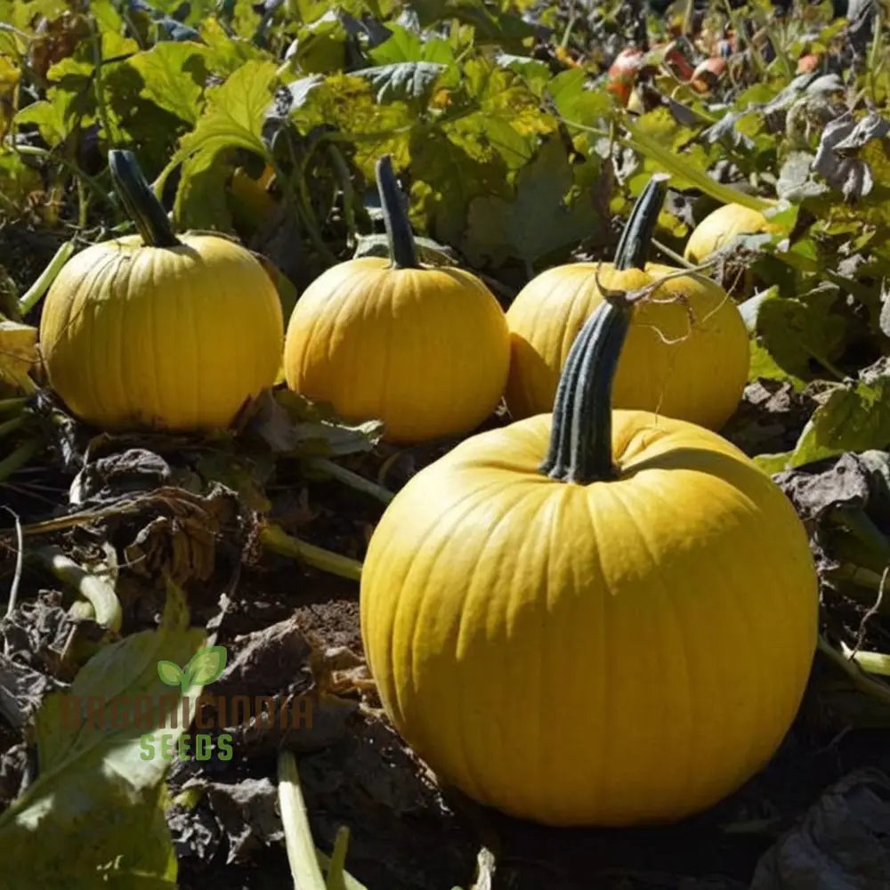
{"type": "Polygon", "coordinates": [[[155,190],[161,190],[176,166],[198,154],[206,159],[224,149],[240,148],[265,158],[268,152],[262,138],[263,121],[276,72],[274,62],[247,61],[223,85],[208,89],[198,124],[182,138],[179,150],[158,176],[155,190]]]}

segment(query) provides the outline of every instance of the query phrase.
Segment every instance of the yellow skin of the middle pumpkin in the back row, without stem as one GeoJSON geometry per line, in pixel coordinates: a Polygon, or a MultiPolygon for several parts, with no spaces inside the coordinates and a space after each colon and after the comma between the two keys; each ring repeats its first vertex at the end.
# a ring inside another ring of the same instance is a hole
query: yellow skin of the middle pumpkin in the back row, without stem
{"type": "Polygon", "coordinates": [[[472,430],[504,392],[503,310],[460,269],[392,269],[362,257],[325,271],[287,325],[287,385],[349,420],[382,419],[389,441],[472,430]]]}

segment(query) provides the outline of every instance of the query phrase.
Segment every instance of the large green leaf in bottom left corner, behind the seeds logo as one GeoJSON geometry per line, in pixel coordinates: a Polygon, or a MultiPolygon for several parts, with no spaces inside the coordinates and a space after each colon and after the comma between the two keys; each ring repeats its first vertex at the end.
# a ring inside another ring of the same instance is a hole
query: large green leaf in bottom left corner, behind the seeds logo
{"type": "Polygon", "coordinates": [[[104,647],[69,691],[44,700],[35,722],[36,780],[0,815],[2,886],[175,886],[164,818],[170,761],[160,756],[160,739],[175,746],[198,696],[184,700],[188,687],[161,684],[157,665],[185,661],[204,644],[204,633],[188,624],[182,592],[170,585],[157,630],[104,647]],[[185,719],[174,721],[182,711],[185,719]]]}

